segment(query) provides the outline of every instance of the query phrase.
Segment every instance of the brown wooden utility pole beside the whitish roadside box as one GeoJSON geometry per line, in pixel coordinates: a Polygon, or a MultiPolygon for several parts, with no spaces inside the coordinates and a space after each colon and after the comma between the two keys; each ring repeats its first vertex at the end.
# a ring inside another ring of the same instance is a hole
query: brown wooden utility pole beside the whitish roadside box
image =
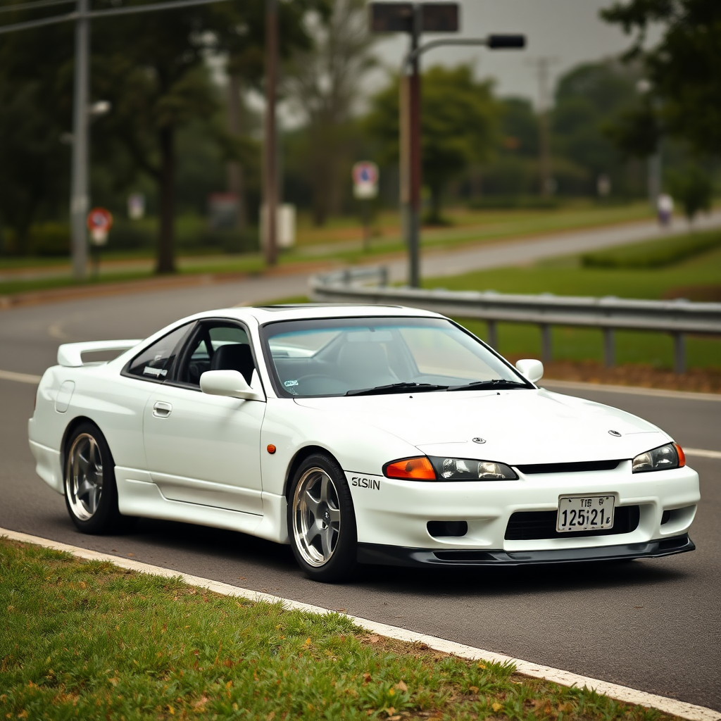
{"type": "Polygon", "coordinates": [[[262,238],[265,262],[278,262],[278,146],[275,128],[275,87],[278,74],[278,0],[265,0],[265,143],[263,196],[265,223],[262,238]]]}

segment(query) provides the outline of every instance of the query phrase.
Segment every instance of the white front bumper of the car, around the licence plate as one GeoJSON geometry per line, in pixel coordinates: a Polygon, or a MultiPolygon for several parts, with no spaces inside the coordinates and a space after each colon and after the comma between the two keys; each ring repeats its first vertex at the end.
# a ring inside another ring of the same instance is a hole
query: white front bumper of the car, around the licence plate
{"type": "Polygon", "coordinates": [[[497,482],[411,482],[349,472],[346,476],[359,544],[434,553],[486,552],[495,558],[501,553],[508,554],[500,557],[506,562],[536,552],[564,557],[565,552],[573,556],[576,549],[592,553],[673,539],[689,533],[700,500],[699,477],[689,466],[633,474],[631,461],[611,471],[519,473],[516,481],[497,482]],[[521,537],[508,532],[513,514],[555,513],[559,496],[566,494],[614,495],[616,509],[637,509],[638,522],[627,531],[584,537],[555,532],[521,537]],[[429,521],[465,522],[467,531],[463,536],[432,535],[429,521]]]}

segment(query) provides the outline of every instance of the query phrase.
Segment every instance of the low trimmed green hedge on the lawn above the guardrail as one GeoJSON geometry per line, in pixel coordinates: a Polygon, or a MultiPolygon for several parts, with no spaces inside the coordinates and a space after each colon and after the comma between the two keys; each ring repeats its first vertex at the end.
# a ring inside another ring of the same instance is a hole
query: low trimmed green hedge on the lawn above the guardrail
{"type": "Polygon", "coordinates": [[[667,267],[718,247],[721,247],[721,231],[689,233],[586,253],[581,256],[581,265],[601,268],[667,267]]]}

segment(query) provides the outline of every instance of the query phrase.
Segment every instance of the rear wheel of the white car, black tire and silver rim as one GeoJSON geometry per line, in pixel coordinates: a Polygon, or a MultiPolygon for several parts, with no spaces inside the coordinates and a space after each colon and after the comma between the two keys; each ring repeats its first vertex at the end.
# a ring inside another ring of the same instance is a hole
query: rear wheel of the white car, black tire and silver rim
{"type": "Polygon", "coordinates": [[[63,490],[68,514],[81,533],[110,534],[125,530],[135,520],[118,510],[115,462],[94,423],[81,423],[68,436],[63,490]]]}

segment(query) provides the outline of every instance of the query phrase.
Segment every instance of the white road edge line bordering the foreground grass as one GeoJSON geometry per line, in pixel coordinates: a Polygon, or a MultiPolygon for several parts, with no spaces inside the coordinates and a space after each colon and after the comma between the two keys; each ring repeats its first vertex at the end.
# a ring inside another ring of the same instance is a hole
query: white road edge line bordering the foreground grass
{"type": "MultiPolygon", "coordinates": [[[[229,583],[221,583],[220,581],[214,581],[210,578],[200,578],[200,576],[193,576],[170,568],[163,568],[162,566],[153,566],[147,563],[133,561],[128,558],[121,558],[110,554],[99,553],[97,551],[90,551],[76,546],[68,546],[67,544],[59,543],[58,541],[51,541],[50,539],[43,539],[38,536],[21,534],[17,531],[9,531],[7,528],[0,528],[0,536],[6,536],[6,538],[14,541],[22,541],[24,543],[32,543],[45,548],[56,549],[58,551],[66,551],[79,558],[109,561],[121,568],[128,568],[141,573],[151,573],[154,575],[164,576],[164,578],[180,576],[190,585],[195,585],[199,588],[207,588],[208,590],[220,593],[223,596],[247,598],[249,601],[255,602],[265,601],[267,603],[282,603],[283,608],[285,609],[305,611],[309,614],[324,615],[336,613],[336,611],[324,609],[321,606],[311,606],[309,603],[291,601],[288,598],[272,596],[270,593],[260,593],[255,590],[250,590],[249,588],[240,588],[239,586],[230,585],[229,583]]],[[[721,721],[721,712],[715,711],[714,709],[708,709],[704,706],[688,704],[684,701],[669,699],[666,696],[648,694],[646,691],[629,689],[627,686],[609,684],[606,681],[599,681],[598,678],[579,676],[578,673],[563,671],[560,668],[552,668],[551,666],[531,663],[530,661],[512,658],[511,656],[506,656],[500,653],[492,653],[491,651],[485,651],[482,648],[466,646],[454,641],[446,641],[442,638],[427,636],[425,634],[416,633],[415,631],[409,631],[408,629],[397,626],[389,626],[388,624],[381,624],[376,621],[362,619],[358,616],[350,616],[350,614],[339,615],[346,616],[348,619],[353,621],[354,624],[366,629],[366,631],[371,631],[381,636],[394,638],[399,641],[425,643],[435,650],[451,653],[461,658],[485,660],[491,661],[492,663],[513,663],[513,665],[516,666],[518,673],[522,673],[524,676],[545,678],[547,681],[553,681],[554,683],[561,684],[562,686],[578,686],[579,688],[583,688],[583,686],[585,686],[588,689],[595,690],[599,694],[610,696],[612,699],[624,701],[629,704],[639,704],[640,706],[655,708],[664,713],[688,719],[689,721],[721,721]]]]}

